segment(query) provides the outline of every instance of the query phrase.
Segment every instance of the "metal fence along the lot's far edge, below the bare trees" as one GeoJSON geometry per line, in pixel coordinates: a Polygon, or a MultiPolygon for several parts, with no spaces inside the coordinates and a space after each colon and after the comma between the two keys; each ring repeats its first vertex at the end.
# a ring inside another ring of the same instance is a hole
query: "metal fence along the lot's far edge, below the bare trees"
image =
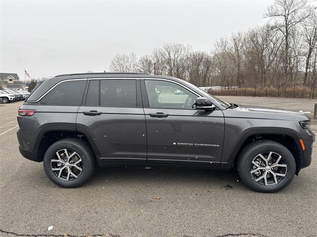
{"type": "Polygon", "coordinates": [[[241,87],[214,87],[207,90],[211,95],[264,96],[285,98],[316,98],[316,87],[303,84],[247,85],[241,87]]]}

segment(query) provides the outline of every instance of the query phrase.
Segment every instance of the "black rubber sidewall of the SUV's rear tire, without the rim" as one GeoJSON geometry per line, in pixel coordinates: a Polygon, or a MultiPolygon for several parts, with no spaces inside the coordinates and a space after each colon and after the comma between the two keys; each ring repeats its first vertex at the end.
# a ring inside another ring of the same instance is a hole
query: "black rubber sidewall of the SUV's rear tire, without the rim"
{"type": "Polygon", "coordinates": [[[91,160],[91,154],[87,152],[86,149],[83,149],[80,145],[73,144],[71,142],[63,142],[58,141],[53,143],[45,153],[43,159],[43,165],[46,175],[49,179],[56,185],[64,187],[64,188],[74,188],[78,187],[86,182],[86,180],[90,177],[90,170],[92,169],[93,162],[91,160]],[[51,160],[57,159],[56,152],[61,149],[67,149],[75,151],[81,158],[81,168],[82,172],[78,176],[78,178],[71,181],[64,181],[59,179],[51,168],[51,160]]]}

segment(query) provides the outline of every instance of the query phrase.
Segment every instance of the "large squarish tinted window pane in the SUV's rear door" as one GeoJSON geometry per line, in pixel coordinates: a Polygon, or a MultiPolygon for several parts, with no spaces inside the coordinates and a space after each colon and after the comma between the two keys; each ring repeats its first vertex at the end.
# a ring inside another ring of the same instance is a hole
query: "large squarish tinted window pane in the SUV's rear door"
{"type": "Polygon", "coordinates": [[[101,80],[100,105],[112,107],[136,107],[135,80],[101,80]]]}

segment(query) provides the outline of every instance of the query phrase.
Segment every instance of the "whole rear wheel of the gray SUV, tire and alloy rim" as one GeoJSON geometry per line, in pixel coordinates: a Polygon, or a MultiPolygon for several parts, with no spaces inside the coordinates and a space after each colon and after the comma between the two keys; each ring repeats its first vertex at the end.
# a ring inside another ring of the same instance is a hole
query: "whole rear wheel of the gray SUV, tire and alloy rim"
{"type": "Polygon", "coordinates": [[[96,157],[90,146],[78,139],[63,139],[53,143],[44,156],[48,178],[63,188],[75,188],[90,179],[96,157]]]}

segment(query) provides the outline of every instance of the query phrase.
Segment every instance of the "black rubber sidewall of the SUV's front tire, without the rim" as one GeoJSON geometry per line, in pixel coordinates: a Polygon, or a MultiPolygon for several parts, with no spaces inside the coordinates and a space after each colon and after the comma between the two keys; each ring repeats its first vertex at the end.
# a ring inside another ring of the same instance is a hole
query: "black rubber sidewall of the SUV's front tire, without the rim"
{"type": "Polygon", "coordinates": [[[241,167],[238,167],[240,177],[251,189],[261,192],[275,192],[284,189],[294,178],[296,172],[296,162],[292,153],[283,145],[261,144],[248,150],[242,158],[241,167]],[[287,165],[285,177],[276,185],[264,186],[256,182],[251,174],[251,164],[253,159],[264,152],[275,152],[282,156],[284,163],[287,165]]]}

